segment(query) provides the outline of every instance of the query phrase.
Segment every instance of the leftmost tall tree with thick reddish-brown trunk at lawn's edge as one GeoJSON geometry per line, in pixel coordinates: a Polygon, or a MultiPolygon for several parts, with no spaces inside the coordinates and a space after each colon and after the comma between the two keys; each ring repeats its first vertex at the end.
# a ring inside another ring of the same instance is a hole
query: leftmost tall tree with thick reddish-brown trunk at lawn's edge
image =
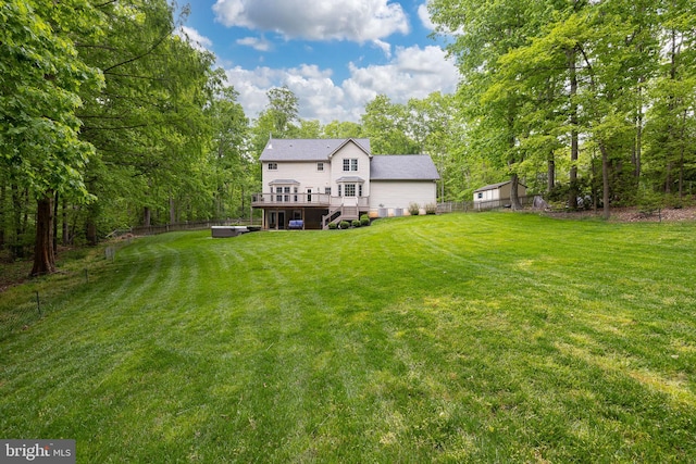
{"type": "Polygon", "coordinates": [[[75,38],[96,36],[100,15],[87,0],[32,0],[2,2],[0,17],[0,160],[36,198],[32,275],[47,274],[55,271],[55,192],[89,198],[82,171],[94,148],[79,140],[75,111],[79,92],[102,80],[78,55],[75,38]]]}

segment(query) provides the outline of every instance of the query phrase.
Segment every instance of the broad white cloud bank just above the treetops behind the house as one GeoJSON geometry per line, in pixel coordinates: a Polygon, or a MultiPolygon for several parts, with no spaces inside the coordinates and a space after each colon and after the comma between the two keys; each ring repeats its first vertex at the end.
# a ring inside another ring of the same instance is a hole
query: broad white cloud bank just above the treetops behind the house
{"type": "Polygon", "coordinates": [[[268,104],[266,91],[286,85],[299,99],[300,117],[359,122],[364,106],[377,95],[395,103],[422,99],[434,91],[451,93],[459,81],[457,67],[439,47],[399,47],[385,65],[360,67],[349,64],[350,76],[341,83],[332,79],[331,70],[302,64],[273,70],[259,66],[248,71],[239,66],[227,70],[229,83],[239,92],[239,102],[251,118],[268,104]]]}

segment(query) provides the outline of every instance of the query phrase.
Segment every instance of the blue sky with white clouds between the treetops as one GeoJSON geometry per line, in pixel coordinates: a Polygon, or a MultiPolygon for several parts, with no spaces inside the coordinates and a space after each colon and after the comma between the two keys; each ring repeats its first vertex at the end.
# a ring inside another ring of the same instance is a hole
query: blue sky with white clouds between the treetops
{"type": "Polygon", "coordinates": [[[426,1],[192,0],[183,30],[215,53],[249,117],[285,85],[302,118],[359,122],[377,95],[405,103],[455,91],[426,1]]]}

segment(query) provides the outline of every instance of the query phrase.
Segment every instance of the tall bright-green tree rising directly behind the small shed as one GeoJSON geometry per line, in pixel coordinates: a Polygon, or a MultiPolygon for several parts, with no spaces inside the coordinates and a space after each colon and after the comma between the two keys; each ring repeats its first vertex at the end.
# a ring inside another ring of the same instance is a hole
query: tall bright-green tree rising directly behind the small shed
{"type": "Polygon", "coordinates": [[[437,32],[455,36],[449,51],[457,58],[462,74],[460,104],[472,121],[472,128],[485,130],[471,135],[484,136],[489,159],[507,167],[512,181],[512,206],[517,198],[520,165],[524,151],[520,149],[523,131],[520,126],[524,96],[509,87],[500,77],[500,58],[527,42],[539,29],[547,12],[544,2],[526,3],[504,0],[481,3],[474,0],[433,0],[428,9],[437,32]]]}

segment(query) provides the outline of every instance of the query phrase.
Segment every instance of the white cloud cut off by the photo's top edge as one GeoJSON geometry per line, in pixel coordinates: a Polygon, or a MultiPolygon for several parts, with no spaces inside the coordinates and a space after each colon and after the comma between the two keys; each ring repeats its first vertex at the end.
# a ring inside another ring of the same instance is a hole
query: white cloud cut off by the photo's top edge
{"type": "Polygon", "coordinates": [[[410,32],[403,9],[389,0],[217,0],[213,11],[227,27],[272,30],[286,38],[362,43],[410,32]]]}

